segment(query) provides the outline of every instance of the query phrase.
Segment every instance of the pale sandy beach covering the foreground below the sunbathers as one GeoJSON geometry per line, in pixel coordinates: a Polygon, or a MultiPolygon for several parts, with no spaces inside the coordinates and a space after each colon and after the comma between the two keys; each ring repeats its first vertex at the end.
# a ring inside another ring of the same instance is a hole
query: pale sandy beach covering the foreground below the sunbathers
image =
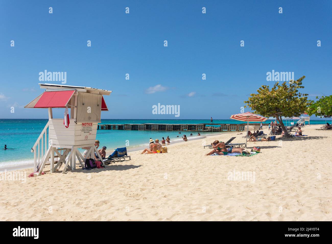
{"type": "Polygon", "coordinates": [[[253,157],[204,156],[205,140],[245,140],[224,133],[170,145],[167,154],[131,152],[131,161],[105,169],[1,181],[0,220],[332,220],[332,130],[320,126],[249,142],[262,148],[253,157]],[[255,179],[231,181],[233,170],[255,179]]]}

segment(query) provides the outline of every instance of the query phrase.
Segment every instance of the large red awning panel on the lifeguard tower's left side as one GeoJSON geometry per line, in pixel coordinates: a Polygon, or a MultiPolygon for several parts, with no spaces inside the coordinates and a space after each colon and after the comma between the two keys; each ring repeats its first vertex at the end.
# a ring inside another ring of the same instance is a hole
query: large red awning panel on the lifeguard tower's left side
{"type": "Polygon", "coordinates": [[[34,108],[65,108],[75,90],[45,91],[34,108]]]}

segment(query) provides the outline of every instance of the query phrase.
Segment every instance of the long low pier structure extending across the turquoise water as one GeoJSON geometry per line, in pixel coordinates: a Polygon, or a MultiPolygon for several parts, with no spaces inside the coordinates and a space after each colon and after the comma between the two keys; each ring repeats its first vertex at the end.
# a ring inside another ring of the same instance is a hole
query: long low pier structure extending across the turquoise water
{"type": "Polygon", "coordinates": [[[97,129],[113,129],[113,130],[162,130],[162,131],[244,131],[246,123],[242,124],[98,124],[97,129]]]}

